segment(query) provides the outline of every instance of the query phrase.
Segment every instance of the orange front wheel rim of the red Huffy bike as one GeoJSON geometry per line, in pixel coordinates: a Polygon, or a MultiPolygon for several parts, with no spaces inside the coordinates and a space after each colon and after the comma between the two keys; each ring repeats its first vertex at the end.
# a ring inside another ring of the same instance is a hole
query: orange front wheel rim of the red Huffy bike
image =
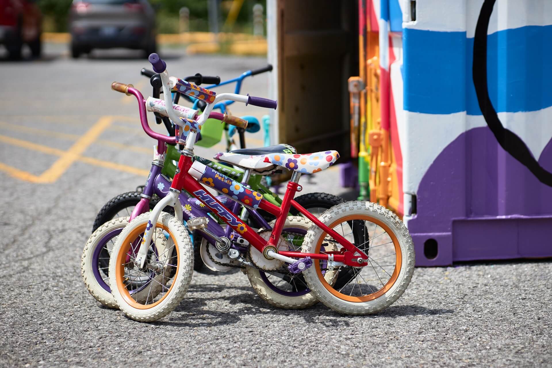
{"type": "MultiPolygon", "coordinates": [[[[130,249],[130,243],[131,243],[131,242],[128,242],[127,239],[131,239],[131,241],[134,241],[134,239],[136,239],[136,237],[139,236],[139,234],[145,232],[146,226],[147,226],[147,223],[144,223],[144,224],[136,227],[125,238],[125,244],[128,244],[128,245],[123,245],[121,247],[121,249],[119,250],[119,253],[117,254],[117,259],[116,259],[116,265],[117,266],[115,268],[115,280],[117,282],[117,288],[119,289],[119,292],[121,293],[121,296],[123,296],[123,299],[125,300],[125,302],[128,303],[128,305],[130,305],[131,307],[134,307],[134,308],[137,308],[137,309],[144,309],[144,310],[155,307],[156,305],[161,303],[164,300],[164,298],[166,298],[167,295],[169,295],[169,293],[172,290],[172,287],[174,286],[174,281],[173,281],[173,283],[171,284],[171,287],[169,287],[169,289],[167,290],[165,295],[163,295],[160,300],[158,300],[156,302],[153,302],[151,304],[140,304],[139,302],[135,301],[132,298],[132,296],[130,295],[128,289],[126,289],[126,285],[123,282],[123,279],[124,279],[124,276],[125,276],[125,260],[126,260],[126,254],[128,253],[128,251],[130,249]]],[[[164,231],[168,232],[169,237],[171,239],[173,239],[173,242],[174,242],[174,236],[173,236],[172,232],[169,231],[166,226],[164,226],[162,223],[157,223],[157,228],[162,228],[164,231]]],[[[174,274],[174,279],[176,279],[177,275],[178,275],[178,266],[180,265],[180,254],[178,252],[178,247],[176,245],[176,242],[174,242],[174,248],[176,248],[176,255],[177,255],[177,265],[176,265],[177,269],[176,269],[176,274],[174,274]]]]}

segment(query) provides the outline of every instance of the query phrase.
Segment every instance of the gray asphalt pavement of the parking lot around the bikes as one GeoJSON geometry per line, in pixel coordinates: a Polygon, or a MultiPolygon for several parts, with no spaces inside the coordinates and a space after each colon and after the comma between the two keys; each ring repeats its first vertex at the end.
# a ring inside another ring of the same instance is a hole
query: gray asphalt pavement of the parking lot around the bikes
{"type": "MultiPolygon", "coordinates": [[[[134,97],[109,87],[132,83],[148,95],[139,75],[148,63],[117,50],[75,61],[66,50],[47,44],[42,60],[0,61],[0,367],[552,366],[549,260],[417,268],[399,301],[374,316],[320,304],[280,310],[240,271],[195,273],[156,323],[100,306],[81,279],[82,248],[100,207],[144,184],[153,150],[134,97]]],[[[266,64],[179,49],[162,57],[171,74],[223,79],[266,64]]],[[[242,92],[266,89],[256,76],[242,92]]],[[[250,107],[232,113],[266,113],[250,107]]],[[[248,142],[261,145],[262,134],[248,142]]],[[[337,166],[313,175],[305,192],[342,194],[337,178],[337,166]]]]}

